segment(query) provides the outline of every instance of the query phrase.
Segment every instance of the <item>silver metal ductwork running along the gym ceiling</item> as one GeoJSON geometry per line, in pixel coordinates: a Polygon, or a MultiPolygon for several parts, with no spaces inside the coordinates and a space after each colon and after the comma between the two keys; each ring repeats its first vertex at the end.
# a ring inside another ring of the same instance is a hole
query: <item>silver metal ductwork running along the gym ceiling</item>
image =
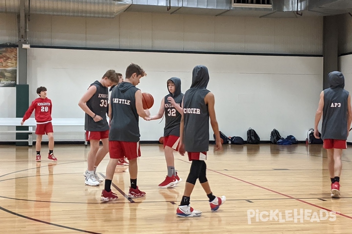
{"type": "MultiPolygon", "coordinates": [[[[101,18],[113,18],[123,11],[291,18],[301,13],[344,14],[352,8],[352,0],[265,0],[269,5],[260,5],[263,0],[26,0],[27,5],[28,1],[31,14],[101,18]]],[[[0,12],[18,13],[19,2],[0,0],[0,12]]]]}

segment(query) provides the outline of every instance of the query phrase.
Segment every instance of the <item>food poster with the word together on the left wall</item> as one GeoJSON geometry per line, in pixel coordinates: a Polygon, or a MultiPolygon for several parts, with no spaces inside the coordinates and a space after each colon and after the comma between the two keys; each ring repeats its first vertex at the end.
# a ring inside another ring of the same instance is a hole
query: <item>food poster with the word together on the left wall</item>
{"type": "Polygon", "coordinates": [[[0,47],[0,87],[15,87],[17,83],[17,48],[0,47]]]}

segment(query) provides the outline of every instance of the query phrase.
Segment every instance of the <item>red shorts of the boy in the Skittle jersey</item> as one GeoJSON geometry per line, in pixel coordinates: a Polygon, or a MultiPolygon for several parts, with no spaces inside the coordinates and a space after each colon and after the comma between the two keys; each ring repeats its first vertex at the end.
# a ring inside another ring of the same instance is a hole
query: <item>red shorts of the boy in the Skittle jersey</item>
{"type": "Polygon", "coordinates": [[[109,154],[111,159],[136,159],[140,157],[139,142],[109,141],[109,154]]]}

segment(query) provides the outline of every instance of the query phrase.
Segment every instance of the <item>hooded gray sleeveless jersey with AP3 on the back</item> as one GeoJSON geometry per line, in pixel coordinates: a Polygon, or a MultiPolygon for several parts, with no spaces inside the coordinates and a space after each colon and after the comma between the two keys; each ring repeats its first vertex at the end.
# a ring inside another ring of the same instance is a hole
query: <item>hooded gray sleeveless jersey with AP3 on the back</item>
{"type": "Polygon", "coordinates": [[[341,72],[328,75],[330,88],[324,89],[324,107],[321,127],[322,139],[347,140],[347,99],[345,78],[341,72]]]}

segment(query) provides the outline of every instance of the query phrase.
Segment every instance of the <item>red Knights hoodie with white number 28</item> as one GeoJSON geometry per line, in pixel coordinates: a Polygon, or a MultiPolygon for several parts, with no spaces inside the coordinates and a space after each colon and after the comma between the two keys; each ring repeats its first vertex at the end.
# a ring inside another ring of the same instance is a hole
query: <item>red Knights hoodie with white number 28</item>
{"type": "Polygon", "coordinates": [[[34,111],[34,116],[37,123],[46,123],[50,122],[51,119],[51,100],[49,98],[37,98],[32,101],[31,106],[28,108],[26,113],[23,116],[22,121],[26,121],[34,111]]]}

